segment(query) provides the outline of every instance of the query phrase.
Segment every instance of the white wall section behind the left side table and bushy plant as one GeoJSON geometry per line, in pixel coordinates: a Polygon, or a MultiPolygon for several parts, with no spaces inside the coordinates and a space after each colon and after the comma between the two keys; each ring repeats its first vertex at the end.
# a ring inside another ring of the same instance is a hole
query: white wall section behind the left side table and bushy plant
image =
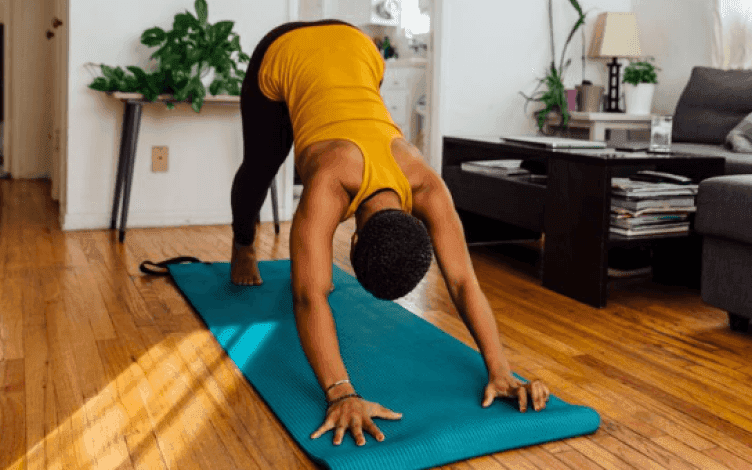
{"type": "MultiPolygon", "coordinates": [[[[288,21],[288,2],[209,1],[209,21],[235,21],[243,50],[251,54],[273,27],[288,21]]],[[[69,151],[65,230],[109,226],[119,154],[123,104],[87,87],[87,62],[147,68],[154,51],[140,43],[153,26],[172,28],[176,13],[194,10],[193,0],[77,0],[70,2],[69,151]]],[[[243,139],[237,106],[188,105],[167,110],[144,106],[138,139],[128,226],[228,224],[230,187],[242,161],[243,139]],[[151,148],[169,146],[169,171],[151,172],[151,148]]],[[[291,160],[283,171],[291,174],[291,160]]],[[[292,212],[292,178],[278,177],[283,219],[292,212]],[[289,194],[287,194],[289,193],[289,194]],[[288,195],[289,197],[282,197],[288,195]]],[[[271,220],[270,198],[262,220],[271,220]]]]}

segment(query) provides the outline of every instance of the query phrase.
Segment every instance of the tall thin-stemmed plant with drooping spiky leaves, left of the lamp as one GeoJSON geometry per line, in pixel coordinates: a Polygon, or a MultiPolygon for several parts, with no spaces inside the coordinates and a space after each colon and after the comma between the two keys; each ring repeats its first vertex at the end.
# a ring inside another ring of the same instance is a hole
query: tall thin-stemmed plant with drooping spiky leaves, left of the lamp
{"type": "Polygon", "coordinates": [[[548,0],[548,20],[551,33],[551,65],[549,66],[546,76],[539,80],[538,86],[535,88],[535,91],[533,91],[532,95],[528,96],[520,92],[520,94],[527,100],[525,103],[525,109],[527,109],[527,104],[529,104],[531,101],[543,103],[544,107],[535,112],[535,116],[537,117],[538,122],[538,129],[540,129],[541,131],[543,130],[543,126],[546,123],[548,114],[551,112],[561,114],[562,128],[566,128],[569,124],[570,114],[569,108],[567,106],[567,96],[564,89],[563,79],[563,75],[566,72],[567,67],[569,67],[570,63],[572,62],[571,59],[566,59],[567,47],[569,47],[569,43],[572,41],[572,38],[574,37],[577,30],[585,24],[585,17],[587,15],[587,13],[584,13],[582,11],[582,7],[577,0],[569,0],[569,3],[577,12],[578,18],[574,26],[572,26],[572,29],[569,32],[569,36],[567,36],[567,41],[564,43],[564,48],[561,51],[561,60],[559,61],[558,67],[556,66],[555,57],[556,48],[554,47],[554,20],[552,10],[553,5],[552,0],[548,0]],[[544,85],[546,89],[539,91],[539,88],[544,85]]]}

